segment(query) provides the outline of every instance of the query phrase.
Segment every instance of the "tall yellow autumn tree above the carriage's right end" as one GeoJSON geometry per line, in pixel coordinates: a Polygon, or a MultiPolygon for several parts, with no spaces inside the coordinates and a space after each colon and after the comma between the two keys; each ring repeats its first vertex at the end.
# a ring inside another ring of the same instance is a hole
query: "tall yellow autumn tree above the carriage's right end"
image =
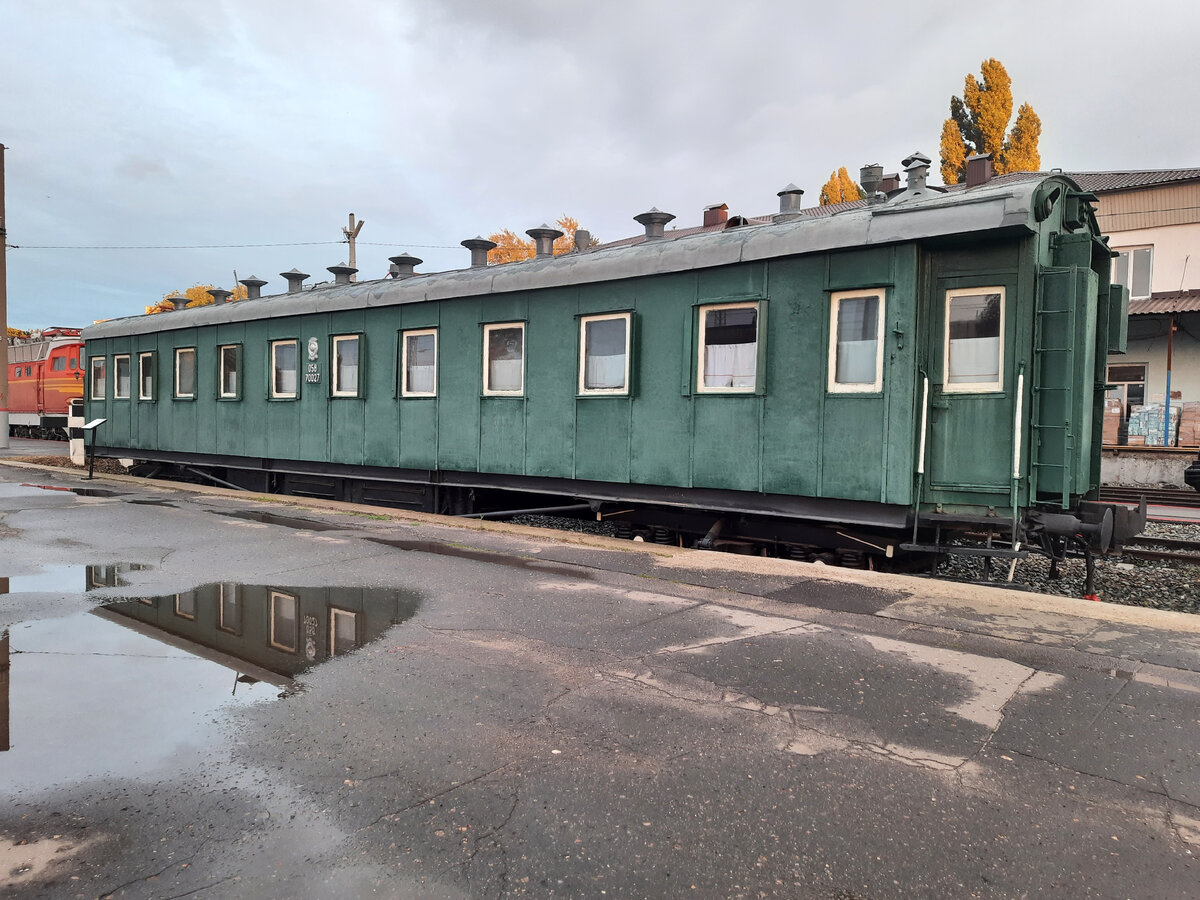
{"type": "Polygon", "coordinates": [[[1038,139],[1042,120],[1033,107],[1022,103],[1013,118],[1013,82],[1004,64],[985,59],[979,65],[982,78],[968,74],[961,97],[950,97],[950,118],[942,124],[942,181],[958,184],[966,176],[966,160],[976,154],[991,154],[996,174],[1037,172],[1042,167],[1038,139]]]}

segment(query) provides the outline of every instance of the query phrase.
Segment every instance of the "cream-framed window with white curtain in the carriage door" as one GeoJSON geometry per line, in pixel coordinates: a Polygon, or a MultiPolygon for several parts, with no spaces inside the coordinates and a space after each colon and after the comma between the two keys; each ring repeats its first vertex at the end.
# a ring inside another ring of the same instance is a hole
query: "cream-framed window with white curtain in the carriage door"
{"type": "Polygon", "coordinates": [[[980,392],[1003,388],[1004,289],[946,292],[947,391],[980,392]]]}

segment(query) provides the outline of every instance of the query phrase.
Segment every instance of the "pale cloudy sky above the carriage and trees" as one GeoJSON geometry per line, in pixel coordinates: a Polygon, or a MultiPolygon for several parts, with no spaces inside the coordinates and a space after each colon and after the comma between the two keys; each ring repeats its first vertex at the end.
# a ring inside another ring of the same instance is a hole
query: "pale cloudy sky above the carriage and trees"
{"type": "Polygon", "coordinates": [[[326,280],[349,212],[379,277],[564,212],[612,240],[650,206],[815,204],[839,166],[936,163],[989,56],[1044,168],[1198,166],[1196,34],[1186,0],[0,0],[8,322],[326,280]]]}

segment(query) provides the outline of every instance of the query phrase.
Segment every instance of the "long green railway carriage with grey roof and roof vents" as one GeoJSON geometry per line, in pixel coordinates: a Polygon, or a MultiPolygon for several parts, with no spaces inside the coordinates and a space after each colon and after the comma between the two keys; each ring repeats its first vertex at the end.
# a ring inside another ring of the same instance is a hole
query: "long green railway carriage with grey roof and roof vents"
{"type": "Polygon", "coordinates": [[[94,325],[97,452],[436,511],[516,491],[833,526],[887,556],[942,526],[1106,529],[1080,500],[1126,317],[1092,198],[910,162],[832,214],[640,216],[607,247],[94,325]]]}

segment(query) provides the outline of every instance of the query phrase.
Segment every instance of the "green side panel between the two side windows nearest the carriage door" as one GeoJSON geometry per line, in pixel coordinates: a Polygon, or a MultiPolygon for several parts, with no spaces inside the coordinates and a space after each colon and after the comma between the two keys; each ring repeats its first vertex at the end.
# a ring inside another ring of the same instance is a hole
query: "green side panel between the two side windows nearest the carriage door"
{"type": "Polygon", "coordinates": [[[762,490],[816,496],[828,316],[823,256],[772,260],[763,398],[762,490]]]}

